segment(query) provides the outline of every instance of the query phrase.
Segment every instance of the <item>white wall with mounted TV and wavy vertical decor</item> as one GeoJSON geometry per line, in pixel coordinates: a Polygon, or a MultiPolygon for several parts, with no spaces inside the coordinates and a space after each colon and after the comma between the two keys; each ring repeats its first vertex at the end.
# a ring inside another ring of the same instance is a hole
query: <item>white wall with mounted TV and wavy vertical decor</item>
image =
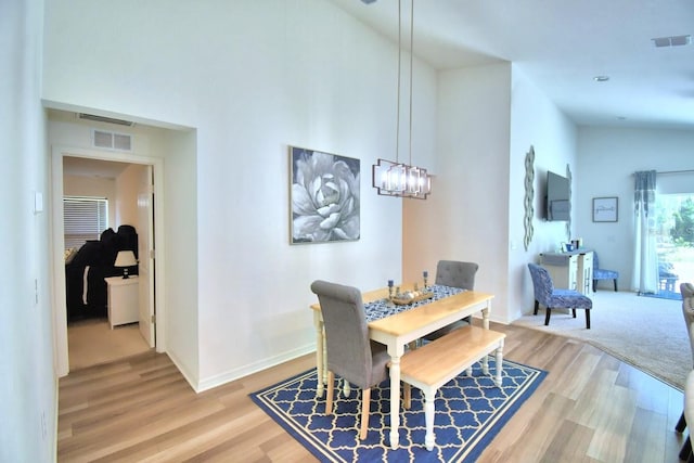
{"type": "MultiPolygon", "coordinates": [[[[537,262],[540,253],[556,250],[568,240],[566,222],[544,219],[547,172],[566,176],[570,166],[573,200],[578,198],[582,182],[577,167],[577,128],[556,105],[532,83],[522,67],[513,65],[513,97],[511,101],[511,155],[509,169],[509,320],[529,313],[534,306],[532,282],[528,262],[537,262]],[[535,215],[532,240],[525,249],[525,157],[535,150],[535,215]]],[[[571,205],[573,230],[580,232],[579,207],[571,205]]]]}

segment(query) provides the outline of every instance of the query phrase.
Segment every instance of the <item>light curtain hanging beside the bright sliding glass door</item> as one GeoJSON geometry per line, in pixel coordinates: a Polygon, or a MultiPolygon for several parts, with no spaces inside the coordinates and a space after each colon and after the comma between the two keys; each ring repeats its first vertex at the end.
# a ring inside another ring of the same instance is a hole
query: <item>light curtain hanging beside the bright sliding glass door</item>
{"type": "Polygon", "coordinates": [[[639,294],[657,293],[655,170],[635,172],[634,177],[634,266],[631,288],[639,294]]]}

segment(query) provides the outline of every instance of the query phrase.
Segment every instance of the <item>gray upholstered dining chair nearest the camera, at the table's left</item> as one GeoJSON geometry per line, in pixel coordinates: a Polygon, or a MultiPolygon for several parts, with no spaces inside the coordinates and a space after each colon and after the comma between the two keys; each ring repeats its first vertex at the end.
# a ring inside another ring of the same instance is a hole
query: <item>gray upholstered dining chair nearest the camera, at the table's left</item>
{"type": "Polygon", "coordinates": [[[390,356],[383,344],[369,338],[361,292],[352,286],[317,280],[311,291],[318,296],[325,326],[327,394],[325,414],[333,413],[333,389],[337,374],[362,389],[359,438],[367,438],[371,388],[388,377],[390,356]]]}

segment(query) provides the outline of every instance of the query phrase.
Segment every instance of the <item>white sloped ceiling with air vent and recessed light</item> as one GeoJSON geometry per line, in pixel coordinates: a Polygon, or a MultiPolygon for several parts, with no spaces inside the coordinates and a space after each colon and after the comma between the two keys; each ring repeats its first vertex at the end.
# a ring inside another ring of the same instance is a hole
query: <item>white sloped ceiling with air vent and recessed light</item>
{"type": "MultiPolygon", "coordinates": [[[[395,0],[330,1],[397,43],[395,0]]],[[[437,69],[510,61],[578,125],[694,129],[694,44],[652,40],[694,35],[693,0],[419,0],[414,13],[414,53],[437,69]]]]}

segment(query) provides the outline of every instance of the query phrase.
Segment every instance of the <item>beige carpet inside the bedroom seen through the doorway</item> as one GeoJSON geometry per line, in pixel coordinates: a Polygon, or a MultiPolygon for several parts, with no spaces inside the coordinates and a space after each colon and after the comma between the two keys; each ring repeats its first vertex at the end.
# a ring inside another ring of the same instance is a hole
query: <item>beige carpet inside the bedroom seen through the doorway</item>
{"type": "Polygon", "coordinates": [[[78,370],[146,352],[138,323],[108,326],[106,319],[83,320],[67,327],[69,369],[78,370]]]}

